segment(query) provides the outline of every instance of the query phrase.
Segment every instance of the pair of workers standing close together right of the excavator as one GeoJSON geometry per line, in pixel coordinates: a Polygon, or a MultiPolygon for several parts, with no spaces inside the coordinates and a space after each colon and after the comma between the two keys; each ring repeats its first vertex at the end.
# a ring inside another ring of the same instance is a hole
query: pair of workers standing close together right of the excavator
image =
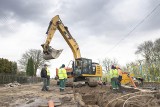
{"type": "Polygon", "coordinates": [[[109,74],[111,78],[112,89],[120,89],[122,81],[122,70],[118,66],[112,65],[109,74]]]}

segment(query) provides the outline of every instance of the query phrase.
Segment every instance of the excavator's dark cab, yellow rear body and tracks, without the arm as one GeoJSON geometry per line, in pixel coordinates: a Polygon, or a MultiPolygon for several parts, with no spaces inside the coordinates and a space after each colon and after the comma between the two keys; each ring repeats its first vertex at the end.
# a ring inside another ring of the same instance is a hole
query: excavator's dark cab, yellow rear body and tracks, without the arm
{"type": "Polygon", "coordinates": [[[97,77],[102,76],[102,68],[98,63],[93,63],[91,59],[77,58],[73,62],[74,82],[85,81],[89,86],[97,86],[97,77]]]}

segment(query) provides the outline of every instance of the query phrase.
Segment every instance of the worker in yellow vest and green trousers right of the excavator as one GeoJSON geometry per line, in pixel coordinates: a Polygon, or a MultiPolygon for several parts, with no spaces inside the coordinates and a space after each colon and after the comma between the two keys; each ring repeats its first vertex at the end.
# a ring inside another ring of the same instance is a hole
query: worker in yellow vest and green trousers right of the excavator
{"type": "Polygon", "coordinates": [[[111,85],[112,89],[119,89],[118,87],[118,71],[114,65],[112,65],[111,70],[110,70],[110,78],[111,78],[111,85]]]}

